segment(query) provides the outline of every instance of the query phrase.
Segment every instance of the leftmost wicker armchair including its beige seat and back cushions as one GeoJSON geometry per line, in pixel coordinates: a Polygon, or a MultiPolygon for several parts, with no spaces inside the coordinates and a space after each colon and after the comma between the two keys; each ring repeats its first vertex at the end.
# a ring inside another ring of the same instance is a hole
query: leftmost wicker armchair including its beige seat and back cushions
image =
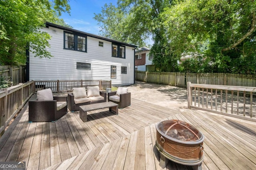
{"type": "Polygon", "coordinates": [[[37,100],[28,101],[28,121],[56,121],[68,112],[67,96],[53,96],[52,90],[37,92],[37,100]]]}

